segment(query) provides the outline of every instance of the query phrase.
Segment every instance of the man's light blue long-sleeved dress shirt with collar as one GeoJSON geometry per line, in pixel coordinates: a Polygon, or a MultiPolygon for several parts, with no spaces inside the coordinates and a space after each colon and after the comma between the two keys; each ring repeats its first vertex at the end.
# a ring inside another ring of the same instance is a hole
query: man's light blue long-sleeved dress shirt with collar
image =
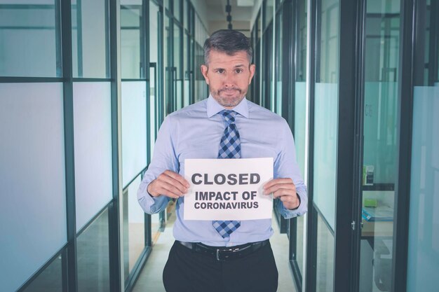
{"type": "MultiPolygon", "coordinates": [[[[137,190],[137,200],[148,214],[163,211],[169,197],[151,197],[147,187],[166,169],[184,176],[184,160],[188,158],[215,159],[219,142],[226,127],[219,111],[224,107],[212,96],[201,102],[175,111],[166,117],[158,132],[154,155],[142,183],[137,190]]],[[[299,172],[294,139],[286,121],[276,113],[243,99],[234,109],[235,123],[241,136],[242,158],[273,158],[275,179],[290,178],[295,183],[300,205],[295,210],[286,209],[280,200],[276,208],[285,218],[303,215],[308,197],[306,186],[299,172]]],[[[269,239],[273,234],[271,219],[241,221],[241,226],[222,238],[213,228],[212,221],[184,220],[184,196],[176,202],[173,234],[182,242],[203,242],[210,246],[234,246],[269,239]]]]}

